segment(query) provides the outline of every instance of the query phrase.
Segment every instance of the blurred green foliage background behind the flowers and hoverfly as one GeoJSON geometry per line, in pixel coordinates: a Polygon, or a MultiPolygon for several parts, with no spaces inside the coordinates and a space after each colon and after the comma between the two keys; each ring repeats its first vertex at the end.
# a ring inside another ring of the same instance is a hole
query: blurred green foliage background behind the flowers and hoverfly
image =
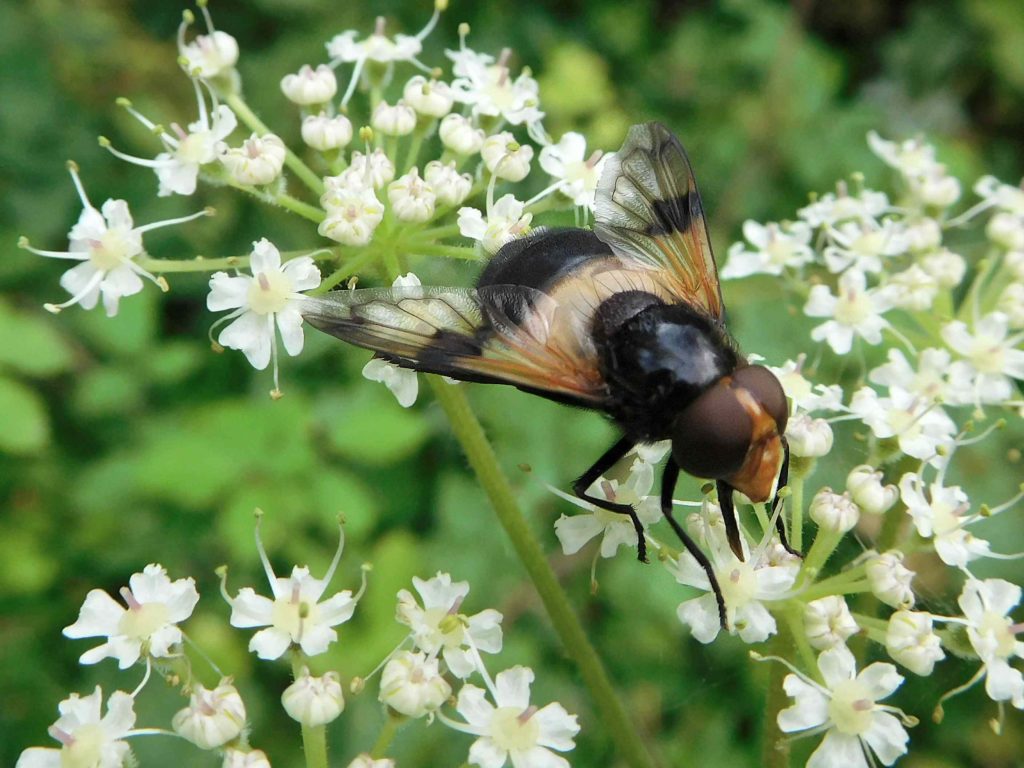
{"type": "MultiPolygon", "coordinates": [[[[276,85],[284,74],[323,61],[323,44],[337,32],[365,34],[383,14],[389,31],[415,34],[431,10],[411,0],[212,6],[218,27],[242,46],[250,103],[293,144],[295,112],[276,85]]],[[[506,649],[493,672],[534,666],[535,701],[557,697],[581,715],[573,764],[613,764],[574,669],[429,396],[402,411],[359,376],[367,353],[310,332],[307,352],[284,364],[286,397],[271,402],[268,375],[254,373],[241,354],[210,353],[201,275],[172,280],[166,297],[147,287],[114,319],[99,310],[54,317],[42,309],[44,301],[65,298],[57,285],[63,265],[14,244],[26,234],[38,247],[67,247],[80,211],[65,170],[69,158],[80,164],[94,204],[124,198],[136,222],[216,206],[213,219],[147,236],[156,256],[244,253],[262,236],[282,250],[317,244],[309,227],[284,213],[217,190],[158,201],[150,172],[97,146],[102,134],[129,153],[153,155],[152,136],[114,106],[118,96],[157,122],[194,119],[191,88],[174,62],[183,7],[0,4],[0,764],[12,765],[26,746],[50,745],[45,729],[70,691],[87,692],[97,682],[104,694],[134,686],[136,673],[119,676],[113,662],[79,667],[89,643],[66,640],[60,629],[75,620],[89,589],[115,593],[152,561],[171,578],[197,579],[204,599],[186,629],[241,680],[254,745],[275,766],[299,764],[297,729],[275,703],[288,671],[246,651],[249,633],[227,628],[213,575],[226,562],[232,591],[265,591],[252,539],[255,506],[267,513],[264,539],[279,572],[293,563],[323,572],[339,510],[349,543],[337,586],[354,588],[359,564],[374,564],[356,617],[318,660],[346,679],[368,673],[401,638],[395,592],[414,574],[447,570],[472,583],[468,611],[493,606],[506,615],[506,649]]],[[[827,190],[854,171],[881,183],[884,171],[864,141],[871,128],[890,137],[926,134],[968,186],[983,172],[1014,181],[1024,170],[1019,0],[454,0],[426,41],[425,61],[447,63],[443,48],[457,45],[463,20],[472,27],[473,48],[509,46],[514,67],[532,68],[555,137],[583,130],[592,144],[610,150],[631,123],[669,124],[689,150],[720,254],[743,219],[793,216],[810,190],[827,190]]],[[[463,285],[475,272],[464,264],[416,268],[424,282],[463,285]]],[[[374,275],[364,280],[373,283],[374,275]]],[[[809,344],[808,324],[769,282],[727,285],[725,292],[745,349],[780,361],[809,344]]],[[[680,590],[656,566],[625,554],[604,562],[601,590],[591,596],[589,554],[557,554],[552,522],[566,507],[543,482],[567,487],[610,444],[612,430],[597,416],[514,390],[469,389],[628,709],[664,764],[756,764],[766,671],[752,665],[745,646],[688,639],[675,617],[680,590]]],[[[849,436],[840,432],[839,442],[850,443],[849,436]]],[[[984,490],[979,498],[999,503],[1020,481],[1019,465],[1005,463],[1019,437],[1019,430],[997,437],[988,453],[965,458],[961,473],[974,475],[980,485],[972,487],[984,490]]],[[[843,450],[849,467],[856,449],[843,450]]],[[[839,474],[820,479],[842,483],[839,474]]],[[[690,482],[677,496],[695,494],[690,482]]],[[[1008,536],[1001,551],[1024,549],[1019,519],[997,521],[1008,536]]],[[[986,568],[979,572],[998,570],[986,568]]],[[[1019,566],[999,572],[1020,581],[1019,566]]],[[[947,578],[937,570],[925,585],[937,612],[955,609],[948,595],[957,588],[947,578]]],[[[937,696],[973,670],[953,660],[932,679],[904,686],[896,703],[923,719],[904,765],[1024,764],[1019,713],[993,737],[987,722],[995,708],[981,691],[951,702],[943,727],[929,722],[937,696]]],[[[382,722],[375,690],[350,699],[330,726],[336,764],[372,745],[382,722]]],[[[166,723],[181,706],[177,694],[154,685],[138,702],[139,723],[166,723]]],[[[797,754],[815,741],[798,744],[797,754]]],[[[468,745],[439,725],[417,725],[399,734],[395,756],[403,767],[454,766],[468,745]]],[[[137,739],[134,746],[143,765],[217,762],[176,739],[137,739]]]]}

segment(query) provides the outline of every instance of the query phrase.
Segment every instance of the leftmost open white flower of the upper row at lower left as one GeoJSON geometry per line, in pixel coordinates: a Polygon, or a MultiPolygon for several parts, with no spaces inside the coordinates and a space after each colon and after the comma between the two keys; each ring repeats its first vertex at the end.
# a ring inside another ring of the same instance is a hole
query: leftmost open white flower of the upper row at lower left
{"type": "Polygon", "coordinates": [[[116,658],[125,670],[142,655],[169,656],[171,648],[181,643],[177,625],[191,615],[199,602],[196,582],[190,577],[172,582],[164,566],[151,563],[141,573],[133,573],[128,584],[120,592],[127,608],[102,590],[91,590],[78,621],[65,627],[65,637],[106,638],[82,654],[82,664],[116,658]]]}

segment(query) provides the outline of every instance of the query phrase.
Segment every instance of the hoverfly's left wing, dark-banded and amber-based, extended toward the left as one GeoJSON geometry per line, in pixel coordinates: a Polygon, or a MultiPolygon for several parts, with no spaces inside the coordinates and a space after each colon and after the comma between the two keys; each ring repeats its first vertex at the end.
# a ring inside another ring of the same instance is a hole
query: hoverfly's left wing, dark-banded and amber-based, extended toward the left
{"type": "Polygon", "coordinates": [[[463,381],[513,386],[588,408],[606,400],[580,306],[526,286],[407,286],[308,298],[311,325],[384,359],[463,381]]]}

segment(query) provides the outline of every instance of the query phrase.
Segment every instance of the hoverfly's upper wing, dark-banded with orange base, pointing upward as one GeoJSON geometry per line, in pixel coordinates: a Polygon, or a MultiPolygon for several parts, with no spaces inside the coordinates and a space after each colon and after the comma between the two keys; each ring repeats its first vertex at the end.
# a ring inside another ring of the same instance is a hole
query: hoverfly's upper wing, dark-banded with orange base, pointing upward
{"type": "Polygon", "coordinates": [[[677,299],[723,322],[718,269],[683,145],[664,125],[630,128],[597,188],[594,231],[636,268],[659,272],[677,299]]]}

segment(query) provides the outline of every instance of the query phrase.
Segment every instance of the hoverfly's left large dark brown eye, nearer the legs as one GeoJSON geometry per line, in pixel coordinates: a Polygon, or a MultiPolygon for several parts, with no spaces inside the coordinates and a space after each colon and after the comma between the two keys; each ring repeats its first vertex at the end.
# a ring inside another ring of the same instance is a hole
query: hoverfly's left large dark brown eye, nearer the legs
{"type": "Polygon", "coordinates": [[[691,402],[672,425],[672,458],[697,477],[728,477],[739,471],[754,424],[736,393],[719,382],[691,402]]]}

